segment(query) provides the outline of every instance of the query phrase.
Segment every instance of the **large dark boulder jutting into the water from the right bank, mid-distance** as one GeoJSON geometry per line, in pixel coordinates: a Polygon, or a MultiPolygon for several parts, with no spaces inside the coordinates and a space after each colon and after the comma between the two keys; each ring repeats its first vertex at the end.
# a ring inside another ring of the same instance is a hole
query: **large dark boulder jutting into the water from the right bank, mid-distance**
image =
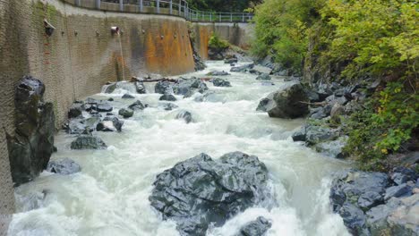
{"type": "Polygon", "coordinates": [[[308,114],[308,97],[300,83],[293,83],[285,89],[271,93],[269,102],[264,99],[263,105],[270,117],[294,119],[308,114]]]}

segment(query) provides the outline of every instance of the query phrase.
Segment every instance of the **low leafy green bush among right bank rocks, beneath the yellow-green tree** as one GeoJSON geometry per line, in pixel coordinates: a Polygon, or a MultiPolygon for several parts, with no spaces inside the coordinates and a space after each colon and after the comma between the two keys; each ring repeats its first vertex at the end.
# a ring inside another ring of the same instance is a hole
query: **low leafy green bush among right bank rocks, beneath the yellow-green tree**
{"type": "Polygon", "coordinates": [[[348,122],[346,152],[361,161],[363,169],[386,170],[386,156],[397,152],[419,125],[419,96],[391,82],[353,114],[348,122]]]}

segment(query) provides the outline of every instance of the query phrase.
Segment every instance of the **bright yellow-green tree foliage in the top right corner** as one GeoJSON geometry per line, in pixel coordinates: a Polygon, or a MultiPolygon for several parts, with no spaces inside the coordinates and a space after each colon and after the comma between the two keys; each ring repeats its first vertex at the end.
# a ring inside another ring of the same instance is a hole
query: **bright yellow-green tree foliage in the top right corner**
{"type": "Polygon", "coordinates": [[[407,0],[329,0],[322,17],[335,30],[325,53],[346,62],[343,74],[385,76],[415,72],[419,55],[419,12],[407,0]]]}

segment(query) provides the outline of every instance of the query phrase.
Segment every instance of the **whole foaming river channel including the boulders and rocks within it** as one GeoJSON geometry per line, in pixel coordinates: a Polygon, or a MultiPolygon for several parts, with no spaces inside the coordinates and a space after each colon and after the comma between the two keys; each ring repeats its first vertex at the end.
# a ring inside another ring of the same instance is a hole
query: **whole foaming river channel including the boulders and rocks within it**
{"type": "Polygon", "coordinates": [[[16,189],[9,233],[349,235],[329,192],[350,164],[294,142],[304,119],[256,111],[294,82],[257,80],[270,72],[250,63],[207,65],[75,103],[47,171],[16,189]]]}

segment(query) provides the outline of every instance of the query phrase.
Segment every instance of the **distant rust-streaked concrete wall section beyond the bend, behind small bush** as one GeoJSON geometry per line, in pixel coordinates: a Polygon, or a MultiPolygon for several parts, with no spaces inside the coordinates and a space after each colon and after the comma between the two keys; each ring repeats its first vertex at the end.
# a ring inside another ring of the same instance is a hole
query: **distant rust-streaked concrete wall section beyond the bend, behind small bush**
{"type": "Polygon", "coordinates": [[[254,35],[253,25],[248,23],[196,22],[192,24],[192,30],[195,35],[195,48],[204,60],[208,59],[208,41],[213,32],[230,44],[244,49],[250,47],[254,35]]]}

